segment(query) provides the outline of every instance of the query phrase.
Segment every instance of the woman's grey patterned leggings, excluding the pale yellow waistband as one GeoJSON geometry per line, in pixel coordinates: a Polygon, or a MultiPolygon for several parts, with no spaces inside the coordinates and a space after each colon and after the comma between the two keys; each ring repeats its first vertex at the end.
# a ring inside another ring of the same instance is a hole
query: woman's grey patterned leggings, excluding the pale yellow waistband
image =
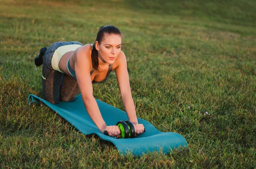
{"type": "Polygon", "coordinates": [[[43,57],[43,95],[44,100],[52,104],[57,104],[59,101],[73,101],[78,95],[79,87],[74,77],[67,76],[62,72],[58,72],[52,68],[52,55],[60,46],[79,44],[80,42],[56,42],[53,43],[44,54],[43,57]]]}

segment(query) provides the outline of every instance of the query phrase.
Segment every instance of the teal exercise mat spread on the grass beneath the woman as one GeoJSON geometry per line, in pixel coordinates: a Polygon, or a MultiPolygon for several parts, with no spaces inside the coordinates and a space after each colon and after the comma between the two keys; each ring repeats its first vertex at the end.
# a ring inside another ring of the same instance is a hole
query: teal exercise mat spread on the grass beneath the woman
{"type": "MultiPolygon", "coordinates": [[[[88,115],[81,95],[76,96],[72,102],[59,102],[58,104],[49,103],[35,95],[29,95],[27,100],[29,104],[45,103],[84,135],[96,134],[103,140],[113,143],[120,154],[131,152],[132,155],[141,156],[143,153],[154,151],[162,151],[164,154],[169,154],[172,149],[188,145],[182,135],[174,132],[160,132],[151,123],[140,118],[138,118],[138,122],[144,125],[146,131],[135,138],[117,139],[116,137],[104,135],[88,115]]],[[[128,120],[128,116],[124,111],[97,99],[96,102],[108,126],[116,125],[121,120],[128,120]]]]}

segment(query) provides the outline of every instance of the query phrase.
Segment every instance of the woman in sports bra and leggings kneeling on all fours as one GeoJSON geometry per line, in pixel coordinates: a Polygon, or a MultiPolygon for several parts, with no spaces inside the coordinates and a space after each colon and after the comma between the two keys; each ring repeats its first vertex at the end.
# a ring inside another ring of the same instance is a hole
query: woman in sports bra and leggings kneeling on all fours
{"type": "Polygon", "coordinates": [[[118,126],[107,126],[93,97],[92,83],[102,83],[115,70],[122,102],[137,134],[144,132],[138,124],[127,71],[125,54],[121,51],[122,34],[115,26],[102,26],[94,44],[56,42],[40,50],[36,66],[43,64],[43,95],[50,103],[73,101],[81,92],[84,106],[103,133],[119,136],[118,126]]]}

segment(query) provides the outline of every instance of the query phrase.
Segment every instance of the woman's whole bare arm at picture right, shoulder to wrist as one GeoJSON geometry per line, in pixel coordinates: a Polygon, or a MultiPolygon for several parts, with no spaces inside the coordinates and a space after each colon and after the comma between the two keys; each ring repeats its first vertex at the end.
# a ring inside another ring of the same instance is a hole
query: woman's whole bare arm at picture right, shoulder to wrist
{"type": "Polygon", "coordinates": [[[132,123],[138,124],[135,107],[134,107],[134,100],[131,96],[131,88],[130,88],[128,70],[127,70],[126,57],[122,51],[119,54],[118,62],[119,63],[115,69],[115,72],[116,72],[116,78],[118,81],[119,90],[121,93],[125,112],[127,113],[128,118],[132,123]]]}

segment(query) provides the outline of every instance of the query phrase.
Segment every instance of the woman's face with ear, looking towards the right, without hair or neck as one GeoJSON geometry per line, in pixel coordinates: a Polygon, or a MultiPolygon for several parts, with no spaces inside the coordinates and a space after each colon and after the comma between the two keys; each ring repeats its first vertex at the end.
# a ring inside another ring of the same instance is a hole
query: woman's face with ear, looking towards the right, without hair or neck
{"type": "Polygon", "coordinates": [[[99,59],[103,63],[113,64],[121,52],[121,43],[122,37],[118,34],[105,35],[100,44],[96,41],[99,59]]]}

